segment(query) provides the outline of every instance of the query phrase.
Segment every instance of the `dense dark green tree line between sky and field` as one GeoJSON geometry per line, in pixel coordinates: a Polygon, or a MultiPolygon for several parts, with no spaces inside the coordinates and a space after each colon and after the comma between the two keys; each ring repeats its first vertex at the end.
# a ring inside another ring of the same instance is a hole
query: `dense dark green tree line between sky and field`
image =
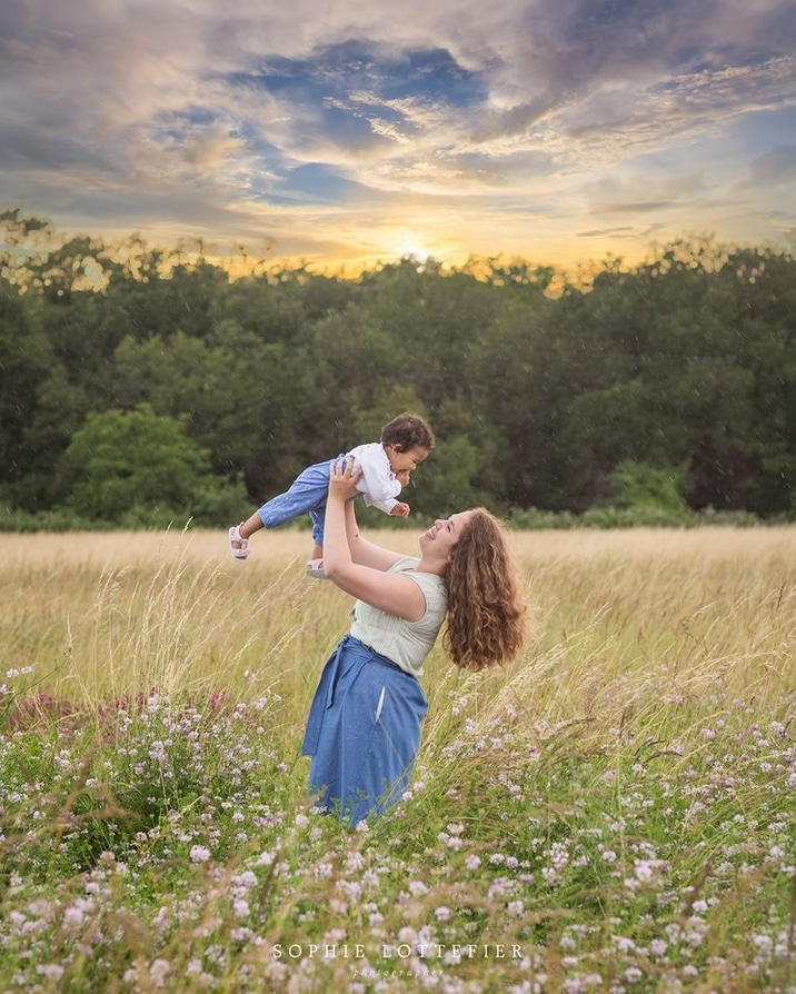
{"type": "Polygon", "coordinates": [[[677,241],[587,286],[500,259],[232,277],[7,210],[0,374],[9,519],[238,520],[406,409],[438,439],[417,514],[796,517],[796,264],[767,247],[677,241]]]}

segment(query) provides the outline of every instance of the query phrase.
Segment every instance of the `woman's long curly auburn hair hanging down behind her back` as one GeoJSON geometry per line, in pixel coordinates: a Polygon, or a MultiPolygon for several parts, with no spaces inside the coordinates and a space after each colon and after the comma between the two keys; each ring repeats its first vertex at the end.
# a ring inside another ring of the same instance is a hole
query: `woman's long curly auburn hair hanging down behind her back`
{"type": "Polygon", "coordinates": [[[445,573],[448,615],[444,646],[462,669],[509,663],[525,639],[525,605],[504,530],[475,508],[445,573]]]}

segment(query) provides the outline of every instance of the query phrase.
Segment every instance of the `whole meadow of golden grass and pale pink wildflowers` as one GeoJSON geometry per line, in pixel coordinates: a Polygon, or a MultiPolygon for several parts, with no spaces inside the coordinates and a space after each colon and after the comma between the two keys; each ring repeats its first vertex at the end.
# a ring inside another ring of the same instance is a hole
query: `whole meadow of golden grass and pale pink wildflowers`
{"type": "Polygon", "coordinates": [[[0,535],[0,992],[795,994],[796,528],[511,541],[521,657],[435,649],[350,832],[306,795],[350,609],[307,533],[0,535]]]}

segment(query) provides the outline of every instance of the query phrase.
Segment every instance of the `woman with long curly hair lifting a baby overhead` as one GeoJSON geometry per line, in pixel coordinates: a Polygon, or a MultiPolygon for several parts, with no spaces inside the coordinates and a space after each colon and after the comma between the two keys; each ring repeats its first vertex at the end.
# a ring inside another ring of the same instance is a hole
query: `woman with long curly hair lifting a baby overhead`
{"type": "Polygon", "coordinates": [[[435,521],[419,557],[401,556],[359,535],[358,476],[342,459],[331,464],[324,565],[357,603],[321,675],[302,747],[319,806],[351,826],[394,805],[408,783],[428,707],[418,678],[442,623],[454,663],[471,670],[508,663],[524,635],[506,541],[488,511],[435,521]]]}

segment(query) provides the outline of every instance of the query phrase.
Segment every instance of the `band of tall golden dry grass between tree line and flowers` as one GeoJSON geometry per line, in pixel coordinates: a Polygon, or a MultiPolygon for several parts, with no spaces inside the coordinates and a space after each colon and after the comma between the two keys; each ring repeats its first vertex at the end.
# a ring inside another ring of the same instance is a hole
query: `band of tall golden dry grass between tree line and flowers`
{"type": "MultiPolygon", "coordinates": [[[[375,535],[405,551],[411,529],[375,535]]],[[[507,670],[472,678],[429,660],[427,735],[446,700],[487,716],[649,720],[661,697],[754,696],[772,714],[796,686],[796,528],[513,533],[529,638],[507,670]],[[435,707],[436,705],[436,707],[435,707]]],[[[210,531],[0,536],[7,667],[34,667],[72,700],[272,687],[300,725],[350,600],[304,575],[308,536],[261,534],[247,563],[210,531]]],[[[440,724],[441,723],[441,724],[440,724]]]]}

